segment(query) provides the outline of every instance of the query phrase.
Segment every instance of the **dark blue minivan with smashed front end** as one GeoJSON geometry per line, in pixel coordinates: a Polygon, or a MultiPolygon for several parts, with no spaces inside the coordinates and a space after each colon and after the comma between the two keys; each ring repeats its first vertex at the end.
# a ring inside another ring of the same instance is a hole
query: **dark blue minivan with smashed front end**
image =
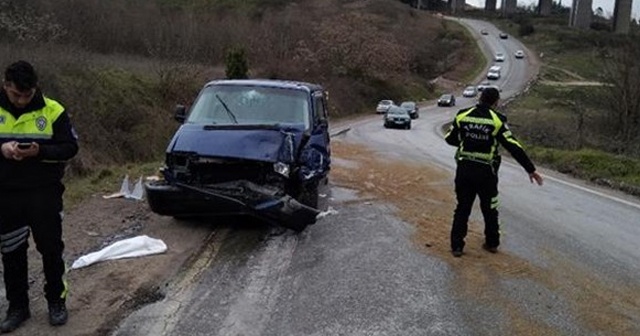
{"type": "Polygon", "coordinates": [[[161,179],[145,184],[160,215],[251,215],[302,231],[316,221],[331,165],[326,92],[281,80],[216,80],[187,110],[161,179]]]}

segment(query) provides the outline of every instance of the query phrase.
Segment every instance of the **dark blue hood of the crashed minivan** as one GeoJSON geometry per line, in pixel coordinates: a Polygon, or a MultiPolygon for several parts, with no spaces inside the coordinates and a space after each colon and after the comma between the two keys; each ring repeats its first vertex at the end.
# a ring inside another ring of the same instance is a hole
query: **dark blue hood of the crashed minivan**
{"type": "Polygon", "coordinates": [[[302,125],[297,128],[185,124],[171,140],[167,154],[182,152],[208,157],[292,163],[303,134],[302,125]]]}

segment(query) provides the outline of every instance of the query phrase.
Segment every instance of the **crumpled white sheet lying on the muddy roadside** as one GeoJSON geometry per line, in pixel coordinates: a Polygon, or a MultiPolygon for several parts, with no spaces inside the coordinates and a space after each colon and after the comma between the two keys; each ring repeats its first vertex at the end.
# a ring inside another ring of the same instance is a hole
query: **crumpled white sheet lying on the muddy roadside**
{"type": "Polygon", "coordinates": [[[160,239],[145,235],[117,241],[100,251],[92,252],[78,258],[71,269],[78,269],[105,260],[136,258],[152,254],[164,253],[167,245],[160,239]]]}

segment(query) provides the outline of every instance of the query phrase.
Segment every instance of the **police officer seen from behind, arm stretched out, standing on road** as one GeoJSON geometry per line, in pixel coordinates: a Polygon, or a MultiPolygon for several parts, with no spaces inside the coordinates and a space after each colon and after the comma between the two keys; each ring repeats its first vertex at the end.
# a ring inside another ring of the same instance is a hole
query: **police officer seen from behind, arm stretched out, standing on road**
{"type": "Polygon", "coordinates": [[[445,140],[458,147],[455,155],[457,168],[455,191],[457,207],[451,228],[451,252],[461,257],[467,223],[476,195],[480,198],[480,209],[485,222],[485,242],[482,248],[496,253],[500,245],[498,224],[498,168],[502,145],[526,170],[529,179],[542,185],[542,176],[525,153],[522,145],[507,126],[507,118],[495,111],[500,99],[496,88],[486,88],[480,95],[479,104],[460,110],[449,128],[445,140]]]}

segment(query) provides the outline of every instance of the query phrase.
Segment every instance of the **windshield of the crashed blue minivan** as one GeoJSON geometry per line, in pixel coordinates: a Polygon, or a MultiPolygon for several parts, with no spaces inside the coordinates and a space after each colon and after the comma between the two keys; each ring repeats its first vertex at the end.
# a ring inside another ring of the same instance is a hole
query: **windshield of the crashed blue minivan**
{"type": "Polygon", "coordinates": [[[186,123],[310,127],[308,94],[286,88],[212,85],[193,104],[186,123]]]}

